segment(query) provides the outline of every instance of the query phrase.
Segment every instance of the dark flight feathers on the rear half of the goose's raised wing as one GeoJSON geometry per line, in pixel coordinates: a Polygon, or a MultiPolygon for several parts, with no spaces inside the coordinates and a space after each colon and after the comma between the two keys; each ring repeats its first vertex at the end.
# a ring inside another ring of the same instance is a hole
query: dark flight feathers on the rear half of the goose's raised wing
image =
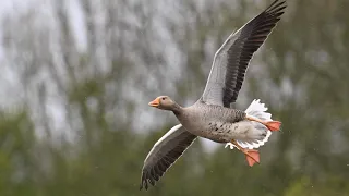
{"type": "Polygon", "coordinates": [[[252,59],[253,53],[263,45],[272,33],[273,28],[277,25],[280,16],[285,13],[287,8],[286,0],[275,0],[264,12],[260,13],[250,23],[248,23],[241,30],[241,38],[236,41],[229,50],[228,63],[237,63],[239,65],[228,66],[225,86],[225,95],[222,102],[225,107],[230,107],[230,102],[234,102],[238,98],[239,91],[244,79],[246,66],[252,59]],[[242,49],[241,49],[242,48],[242,49]],[[230,69],[230,70],[229,70],[230,69]]]}

